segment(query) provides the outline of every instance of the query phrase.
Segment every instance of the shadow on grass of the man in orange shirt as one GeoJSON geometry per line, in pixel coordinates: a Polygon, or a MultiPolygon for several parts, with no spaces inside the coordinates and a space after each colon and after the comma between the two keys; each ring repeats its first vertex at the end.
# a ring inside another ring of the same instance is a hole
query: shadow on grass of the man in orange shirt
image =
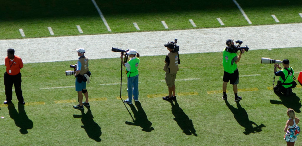
{"type": "Polygon", "coordinates": [[[24,110],[24,105],[18,102],[18,112],[14,106],[14,104],[11,102],[7,106],[8,108],[8,114],[11,117],[11,119],[14,120],[16,126],[20,127],[19,130],[21,134],[27,134],[27,129],[33,128],[33,121],[31,121],[28,116],[26,115],[26,112],[24,110]]]}

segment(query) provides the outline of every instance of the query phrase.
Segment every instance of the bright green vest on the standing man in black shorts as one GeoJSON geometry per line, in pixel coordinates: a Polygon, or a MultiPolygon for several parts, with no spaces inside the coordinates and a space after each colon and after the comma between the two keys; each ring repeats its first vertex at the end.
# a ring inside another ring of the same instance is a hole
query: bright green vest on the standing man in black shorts
{"type": "Polygon", "coordinates": [[[233,58],[236,56],[236,53],[230,53],[226,51],[226,48],[224,48],[222,61],[224,71],[228,73],[234,73],[234,71],[237,69],[237,64],[235,63],[233,58]]]}

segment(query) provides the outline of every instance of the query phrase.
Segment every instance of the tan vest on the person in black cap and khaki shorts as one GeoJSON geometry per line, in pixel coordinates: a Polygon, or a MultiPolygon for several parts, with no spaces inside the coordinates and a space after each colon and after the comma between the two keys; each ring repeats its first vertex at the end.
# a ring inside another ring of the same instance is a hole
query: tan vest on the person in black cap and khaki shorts
{"type": "Polygon", "coordinates": [[[178,52],[170,52],[167,54],[169,57],[169,64],[166,62],[164,69],[167,73],[177,73],[178,71],[178,52]]]}

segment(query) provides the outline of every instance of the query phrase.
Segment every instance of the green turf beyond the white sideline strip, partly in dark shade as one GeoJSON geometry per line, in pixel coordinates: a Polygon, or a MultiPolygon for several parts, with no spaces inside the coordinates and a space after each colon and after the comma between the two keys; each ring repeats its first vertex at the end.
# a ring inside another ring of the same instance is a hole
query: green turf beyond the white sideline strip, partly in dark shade
{"type": "Polygon", "coordinates": [[[300,0],[238,0],[252,24],[243,17],[232,0],[214,1],[109,1],[96,0],[108,25],[109,32],[91,0],[7,0],[0,5],[0,39],[51,37],[47,27],[52,27],[53,36],[74,36],[104,33],[194,28],[251,26],[276,24],[271,14],[280,23],[301,23],[302,2],[300,0]],[[224,26],[217,21],[220,18],[224,26]],[[192,19],[197,27],[189,22],[192,19]],[[140,27],[137,30],[133,23],[140,27]],[[79,33],[80,25],[83,33],[79,33]],[[25,36],[22,37],[19,29],[25,36]]]}

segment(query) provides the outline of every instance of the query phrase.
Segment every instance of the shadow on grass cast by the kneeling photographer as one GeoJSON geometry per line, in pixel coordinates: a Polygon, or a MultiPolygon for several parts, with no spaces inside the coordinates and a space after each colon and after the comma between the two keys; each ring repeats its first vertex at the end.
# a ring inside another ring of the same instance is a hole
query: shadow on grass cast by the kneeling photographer
{"type": "Polygon", "coordinates": [[[275,93],[277,96],[279,96],[279,99],[281,101],[277,100],[269,100],[271,104],[283,104],[287,108],[293,109],[297,113],[301,113],[301,101],[300,98],[296,95],[296,93],[293,93],[293,95],[290,96],[284,96],[281,93],[275,93]]]}

